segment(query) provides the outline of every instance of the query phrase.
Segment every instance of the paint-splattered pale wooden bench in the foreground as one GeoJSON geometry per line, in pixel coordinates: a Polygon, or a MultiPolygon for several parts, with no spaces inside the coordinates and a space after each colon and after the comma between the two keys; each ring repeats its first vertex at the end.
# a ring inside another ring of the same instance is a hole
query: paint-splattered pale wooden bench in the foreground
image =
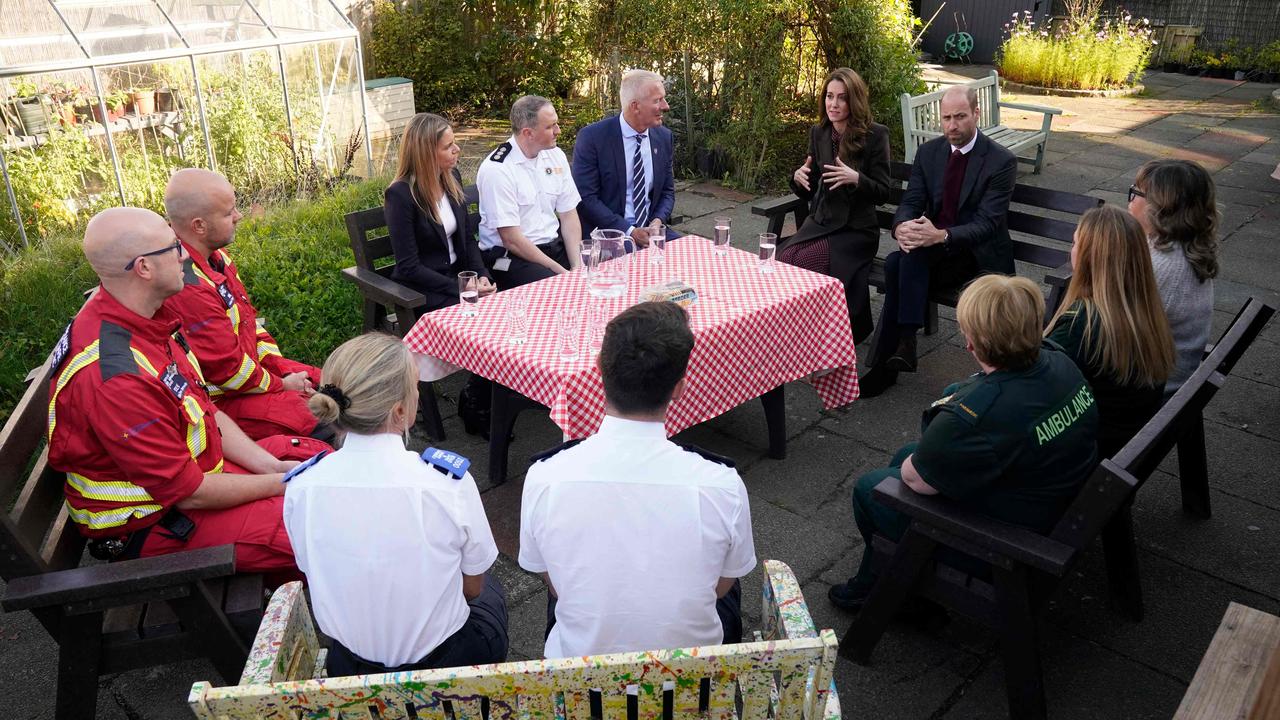
{"type": "Polygon", "coordinates": [[[755,642],[319,679],[301,585],[276,591],[239,685],[196,683],[204,720],[837,720],[836,635],[818,632],[791,569],[767,560],[755,642]],[[741,697],[741,714],[736,710],[741,697]]]}

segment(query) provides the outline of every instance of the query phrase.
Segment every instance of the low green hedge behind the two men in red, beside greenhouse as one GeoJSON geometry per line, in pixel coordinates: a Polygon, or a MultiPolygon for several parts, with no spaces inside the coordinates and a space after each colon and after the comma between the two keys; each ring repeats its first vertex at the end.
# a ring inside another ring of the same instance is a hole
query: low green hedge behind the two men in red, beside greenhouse
{"type": "MultiPolygon", "coordinates": [[[[339,277],[355,263],[343,215],[381,205],[385,187],[384,179],[342,186],[241,223],[229,252],[287,356],[319,365],[360,333],[360,295],[339,277]]],[[[78,232],[0,265],[0,423],[22,397],[27,372],[44,363],[96,283],[78,232]]]]}

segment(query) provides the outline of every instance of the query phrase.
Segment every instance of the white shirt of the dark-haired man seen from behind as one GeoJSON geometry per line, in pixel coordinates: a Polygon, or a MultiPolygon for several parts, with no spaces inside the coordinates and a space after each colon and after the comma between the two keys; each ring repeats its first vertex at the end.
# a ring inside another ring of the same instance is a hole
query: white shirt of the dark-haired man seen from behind
{"type": "Polygon", "coordinates": [[[746,487],[662,423],[605,415],[529,468],[520,566],[558,596],[547,657],[721,644],[716,584],[755,568],[746,487]]]}

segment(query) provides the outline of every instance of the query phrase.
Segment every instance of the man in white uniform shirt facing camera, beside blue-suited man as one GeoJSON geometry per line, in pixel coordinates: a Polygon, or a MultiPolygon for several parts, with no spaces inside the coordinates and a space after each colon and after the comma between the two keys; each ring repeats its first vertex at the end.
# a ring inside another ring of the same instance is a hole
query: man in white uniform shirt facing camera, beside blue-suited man
{"type": "Polygon", "coordinates": [[[512,136],[480,163],[480,254],[498,287],[516,287],[579,265],[580,197],[550,100],[511,106],[512,136]]]}

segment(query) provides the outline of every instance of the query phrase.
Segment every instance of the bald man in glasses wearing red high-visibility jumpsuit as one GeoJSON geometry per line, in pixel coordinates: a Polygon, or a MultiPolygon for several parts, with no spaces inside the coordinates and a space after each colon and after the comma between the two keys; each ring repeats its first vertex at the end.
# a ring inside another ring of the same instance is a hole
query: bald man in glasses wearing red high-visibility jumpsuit
{"type": "Polygon", "coordinates": [[[54,348],[49,461],[67,473],[67,507],[91,551],[128,559],[234,543],[238,570],[296,577],[283,473],[328,445],[255,443],[214,406],[164,307],[182,290],[186,254],[163,218],[100,213],[84,255],[101,288],[54,348]]]}

